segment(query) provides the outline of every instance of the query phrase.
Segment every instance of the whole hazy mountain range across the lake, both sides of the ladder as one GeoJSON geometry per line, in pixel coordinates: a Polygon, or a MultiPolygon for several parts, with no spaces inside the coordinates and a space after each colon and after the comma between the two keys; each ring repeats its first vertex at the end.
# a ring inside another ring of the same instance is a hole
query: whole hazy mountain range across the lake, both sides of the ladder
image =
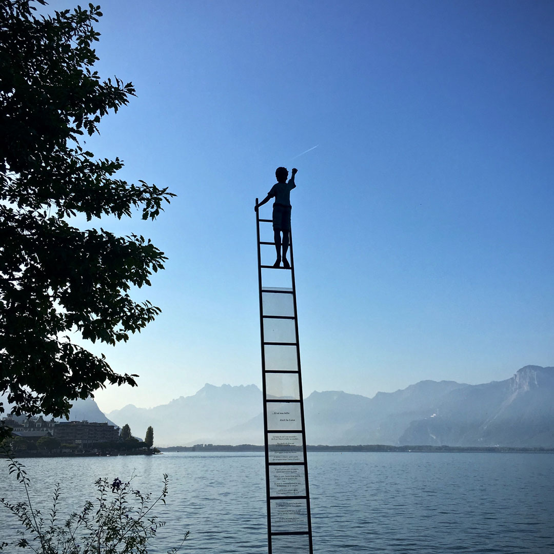
{"type": "MultiPolygon", "coordinates": [[[[263,444],[261,406],[261,391],[253,384],[206,384],[162,406],[129,404],[107,416],[120,427],[128,423],[138,435],[152,425],[161,447],[263,444]]],[[[308,444],[552,448],[554,367],[526,366],[504,381],[477,385],[420,381],[373,398],[313,392],[304,412],[308,444]]]]}

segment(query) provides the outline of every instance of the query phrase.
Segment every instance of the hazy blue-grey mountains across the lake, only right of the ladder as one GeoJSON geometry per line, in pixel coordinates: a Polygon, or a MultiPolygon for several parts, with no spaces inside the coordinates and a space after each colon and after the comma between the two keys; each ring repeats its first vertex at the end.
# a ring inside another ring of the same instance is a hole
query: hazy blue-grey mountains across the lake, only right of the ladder
{"type": "Polygon", "coordinates": [[[554,447],[554,368],[478,385],[422,381],[371,399],[314,393],[305,413],[310,444],[554,447]]]}

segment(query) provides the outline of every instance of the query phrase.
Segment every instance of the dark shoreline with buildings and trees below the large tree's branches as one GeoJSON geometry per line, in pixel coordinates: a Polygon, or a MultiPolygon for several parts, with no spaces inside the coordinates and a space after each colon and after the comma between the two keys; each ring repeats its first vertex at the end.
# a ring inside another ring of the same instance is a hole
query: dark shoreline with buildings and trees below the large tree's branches
{"type": "Polygon", "coordinates": [[[153,429],[145,440],[133,437],[129,425],[121,429],[107,422],[57,421],[42,416],[9,416],[2,423],[11,428],[11,437],[1,446],[17,456],[137,455],[157,454],[153,429]]]}

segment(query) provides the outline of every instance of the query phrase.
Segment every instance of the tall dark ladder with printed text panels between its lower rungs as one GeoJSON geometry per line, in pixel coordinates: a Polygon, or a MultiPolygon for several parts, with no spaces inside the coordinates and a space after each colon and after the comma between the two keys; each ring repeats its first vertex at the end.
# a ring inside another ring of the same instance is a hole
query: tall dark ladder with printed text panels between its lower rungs
{"type": "Polygon", "coordinates": [[[312,554],[293,240],[290,269],[274,268],[271,219],[260,219],[256,212],[256,225],[268,552],[312,554]]]}

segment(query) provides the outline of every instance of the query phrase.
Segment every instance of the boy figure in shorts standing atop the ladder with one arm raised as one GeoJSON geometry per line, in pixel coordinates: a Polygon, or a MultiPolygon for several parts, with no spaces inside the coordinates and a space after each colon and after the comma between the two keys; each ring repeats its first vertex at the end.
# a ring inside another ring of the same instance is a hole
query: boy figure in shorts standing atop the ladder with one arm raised
{"type": "Polygon", "coordinates": [[[294,176],[297,171],[296,168],[293,168],[293,175],[289,179],[289,182],[286,182],[286,178],[289,176],[289,170],[286,167],[278,167],[275,170],[277,182],[271,187],[268,196],[254,206],[254,210],[257,212],[260,206],[269,202],[271,198],[275,198],[273,204],[273,236],[275,239],[277,259],[273,264],[274,268],[278,268],[281,265],[281,245],[283,247],[283,267],[290,268],[289,260],[286,259],[290,236],[290,191],[296,187],[294,176]],[[281,233],[283,233],[282,241],[281,233]]]}

